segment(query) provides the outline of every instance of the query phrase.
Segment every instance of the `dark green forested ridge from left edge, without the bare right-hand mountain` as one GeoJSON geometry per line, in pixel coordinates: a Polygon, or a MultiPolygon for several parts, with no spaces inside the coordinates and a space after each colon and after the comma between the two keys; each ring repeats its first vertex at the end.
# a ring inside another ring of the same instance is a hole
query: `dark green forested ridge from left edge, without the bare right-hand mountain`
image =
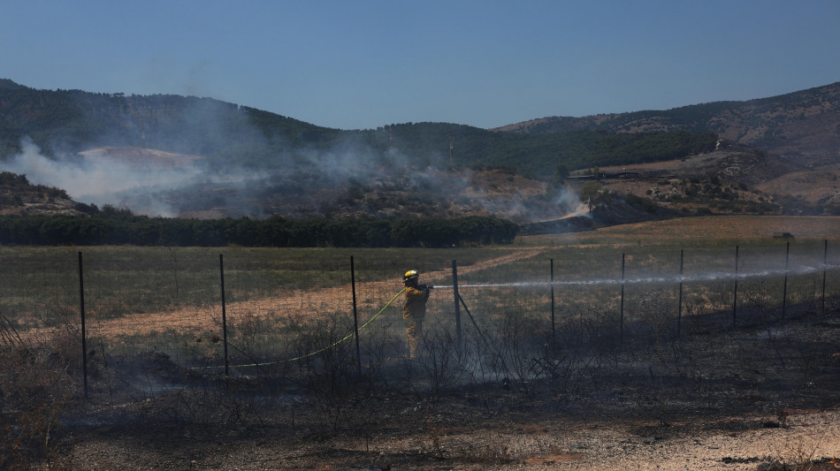
{"type": "Polygon", "coordinates": [[[364,152],[382,165],[508,167],[546,175],[639,163],[714,148],[712,133],[494,133],[468,125],[408,123],[338,130],[210,98],[38,90],[0,80],[0,158],[27,137],[47,156],[131,146],[204,156],[210,167],[256,169],[311,162],[312,153],[364,152]],[[452,153],[450,158],[450,144],[452,153]]]}

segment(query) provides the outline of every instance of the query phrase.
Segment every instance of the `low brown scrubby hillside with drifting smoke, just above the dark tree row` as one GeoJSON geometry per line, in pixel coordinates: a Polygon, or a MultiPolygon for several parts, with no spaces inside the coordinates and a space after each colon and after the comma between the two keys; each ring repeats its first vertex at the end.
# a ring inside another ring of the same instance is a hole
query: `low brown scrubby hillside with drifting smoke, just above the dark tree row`
{"type": "MultiPolygon", "coordinates": [[[[95,148],[85,156],[132,163],[92,170],[98,174],[139,172],[156,181],[192,175],[203,162],[196,156],[140,148],[95,148]],[[149,158],[139,158],[143,154],[149,158]]],[[[149,184],[105,194],[107,202],[100,204],[138,214],[164,211],[166,216],[195,219],[496,216],[525,224],[524,232],[569,232],[697,214],[838,214],[837,173],[804,170],[781,158],[722,142],[706,154],[600,167],[594,181],[613,197],[588,215],[585,205],[581,211],[578,194],[587,181],[593,181],[589,169],[572,171],[558,184],[556,179],[534,179],[498,168],[375,168],[345,176],[299,168],[225,179],[184,178],[171,187],[149,184]]],[[[22,177],[26,185],[21,185],[20,179],[0,181],[3,214],[68,215],[90,210],[63,190],[31,185],[26,177],[22,177]]]]}

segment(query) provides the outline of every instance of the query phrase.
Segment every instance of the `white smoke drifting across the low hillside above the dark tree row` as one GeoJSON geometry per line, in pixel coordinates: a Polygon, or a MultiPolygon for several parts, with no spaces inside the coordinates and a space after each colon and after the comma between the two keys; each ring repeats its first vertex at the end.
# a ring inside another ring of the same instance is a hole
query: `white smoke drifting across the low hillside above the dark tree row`
{"type": "MultiPolygon", "coordinates": [[[[0,162],[0,169],[26,175],[35,185],[63,189],[75,201],[128,208],[147,216],[330,215],[336,214],[337,203],[347,204],[342,201],[349,201],[347,192],[354,187],[390,201],[386,206],[417,198],[407,204],[413,208],[433,206],[435,211],[446,210],[452,215],[478,211],[517,223],[556,219],[581,205],[566,188],[554,192],[550,199],[500,191],[493,179],[479,172],[442,171],[431,162],[418,166],[396,147],[381,155],[353,139],[341,140],[331,148],[266,155],[263,168],[242,167],[235,164],[235,158],[230,159],[234,163],[219,167],[217,159],[213,170],[203,163],[162,164],[160,157],[167,153],[154,149],[134,148],[130,158],[119,154],[126,152],[125,148],[112,148],[111,154],[101,148],[52,158],[44,156],[29,139],[21,141],[21,148],[18,155],[0,162]]],[[[439,163],[441,158],[429,160],[439,163]]],[[[196,157],[196,162],[205,161],[196,157]]],[[[381,214],[392,210],[367,198],[355,199],[355,204],[356,210],[384,211],[381,214]],[[370,208],[370,203],[375,207],[370,208]]]]}

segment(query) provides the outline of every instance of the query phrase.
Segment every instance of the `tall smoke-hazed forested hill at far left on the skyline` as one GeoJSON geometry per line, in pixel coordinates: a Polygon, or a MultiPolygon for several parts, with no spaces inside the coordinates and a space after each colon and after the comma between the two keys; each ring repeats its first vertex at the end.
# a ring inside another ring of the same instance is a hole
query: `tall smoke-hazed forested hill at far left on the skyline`
{"type": "Polygon", "coordinates": [[[47,155],[131,146],[247,164],[341,133],[210,98],[36,90],[0,80],[0,157],[18,153],[26,136],[47,155]]]}

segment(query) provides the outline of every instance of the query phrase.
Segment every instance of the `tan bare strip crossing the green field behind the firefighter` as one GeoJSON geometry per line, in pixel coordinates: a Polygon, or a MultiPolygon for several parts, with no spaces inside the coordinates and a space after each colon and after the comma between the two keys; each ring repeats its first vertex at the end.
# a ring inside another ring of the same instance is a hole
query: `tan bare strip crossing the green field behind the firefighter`
{"type": "MultiPolygon", "coordinates": [[[[527,258],[545,254],[553,243],[575,244],[577,238],[587,245],[660,245],[685,242],[686,245],[722,241],[763,241],[772,239],[774,232],[790,232],[797,239],[840,238],[840,217],[686,217],[668,221],[638,224],[624,224],[607,227],[595,232],[571,235],[528,236],[513,247],[501,247],[498,256],[461,268],[467,275],[482,270],[492,270],[527,258]],[[674,234],[680,234],[675,237],[674,234]]],[[[448,270],[431,271],[424,274],[430,283],[442,283],[449,275],[448,270]]],[[[391,292],[401,286],[393,280],[366,284],[373,292],[391,292]]],[[[258,299],[230,303],[227,309],[233,315],[248,313],[266,318],[278,312],[302,317],[314,312],[329,312],[347,301],[348,286],[318,289],[317,292],[291,292],[282,296],[263,296],[258,299]]],[[[131,315],[132,322],[124,319],[104,320],[96,323],[92,330],[96,335],[115,338],[120,335],[149,336],[163,330],[199,330],[197,326],[207,323],[208,316],[219,318],[218,307],[186,307],[172,311],[131,315]]]]}

